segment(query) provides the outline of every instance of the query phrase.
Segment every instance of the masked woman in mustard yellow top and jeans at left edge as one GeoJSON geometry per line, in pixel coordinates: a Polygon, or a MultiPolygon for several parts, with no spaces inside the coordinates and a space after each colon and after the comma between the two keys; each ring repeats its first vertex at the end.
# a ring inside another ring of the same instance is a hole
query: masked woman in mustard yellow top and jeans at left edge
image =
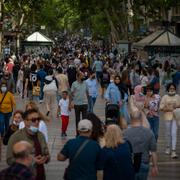
{"type": "Polygon", "coordinates": [[[2,137],[7,133],[15,105],[13,94],[8,91],[7,84],[2,82],[0,85],[0,134],[2,137]]]}

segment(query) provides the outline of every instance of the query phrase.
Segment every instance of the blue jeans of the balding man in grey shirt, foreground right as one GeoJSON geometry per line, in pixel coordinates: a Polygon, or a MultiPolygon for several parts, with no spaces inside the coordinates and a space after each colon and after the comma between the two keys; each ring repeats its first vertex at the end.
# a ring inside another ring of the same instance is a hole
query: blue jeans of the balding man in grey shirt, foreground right
{"type": "Polygon", "coordinates": [[[150,165],[141,163],[139,172],[135,175],[135,180],[147,180],[149,173],[150,165]]]}

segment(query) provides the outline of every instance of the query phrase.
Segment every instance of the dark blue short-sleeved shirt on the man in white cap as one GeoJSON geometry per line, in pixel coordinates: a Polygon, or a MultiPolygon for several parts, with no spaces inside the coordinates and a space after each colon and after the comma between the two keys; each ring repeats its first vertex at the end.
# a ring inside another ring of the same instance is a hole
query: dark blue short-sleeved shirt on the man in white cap
{"type": "MultiPolygon", "coordinates": [[[[78,148],[87,138],[85,136],[78,136],[76,139],[69,140],[61,150],[61,154],[69,158],[71,162],[78,148]]],[[[71,164],[70,171],[68,171],[70,179],[96,180],[100,150],[98,143],[90,140],[75,161],[73,161],[73,164],[71,164]]]]}

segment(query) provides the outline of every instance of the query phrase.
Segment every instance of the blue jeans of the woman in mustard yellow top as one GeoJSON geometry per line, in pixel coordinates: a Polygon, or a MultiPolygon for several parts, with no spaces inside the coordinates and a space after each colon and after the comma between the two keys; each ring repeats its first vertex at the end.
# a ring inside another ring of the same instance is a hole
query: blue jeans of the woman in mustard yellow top
{"type": "Polygon", "coordinates": [[[12,116],[12,112],[10,113],[2,113],[0,112],[0,134],[3,136],[8,128],[9,128],[9,121],[12,116]]]}

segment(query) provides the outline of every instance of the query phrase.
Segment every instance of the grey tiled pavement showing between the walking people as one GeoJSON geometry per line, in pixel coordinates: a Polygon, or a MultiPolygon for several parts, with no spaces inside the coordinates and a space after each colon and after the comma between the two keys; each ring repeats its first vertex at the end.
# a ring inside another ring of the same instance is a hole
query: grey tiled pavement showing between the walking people
{"type": "MultiPolygon", "coordinates": [[[[26,101],[21,100],[16,96],[17,101],[17,109],[24,109],[26,101]]],[[[45,112],[44,104],[39,105],[42,112],[45,112]]],[[[56,110],[56,107],[53,108],[56,110]]],[[[104,101],[101,98],[98,98],[95,108],[95,113],[103,120],[104,119],[104,101]]],[[[62,180],[63,172],[65,167],[67,166],[66,162],[58,162],[56,160],[57,153],[62,148],[64,143],[75,136],[75,120],[74,120],[74,111],[71,112],[70,116],[70,124],[68,128],[68,137],[61,138],[60,136],[60,121],[57,119],[51,120],[51,122],[47,123],[49,130],[49,149],[51,153],[51,161],[48,165],[46,165],[46,175],[47,180],[62,180]]],[[[169,156],[164,154],[165,142],[164,142],[164,125],[163,121],[160,123],[160,133],[158,140],[158,162],[159,162],[159,176],[156,178],[149,178],[150,180],[180,180],[180,160],[172,160],[169,156]]],[[[180,133],[178,133],[178,145],[177,145],[177,153],[180,156],[180,133]]],[[[0,162],[0,170],[6,167],[5,162],[5,151],[6,147],[3,146],[2,150],[2,161],[0,162]]]]}

